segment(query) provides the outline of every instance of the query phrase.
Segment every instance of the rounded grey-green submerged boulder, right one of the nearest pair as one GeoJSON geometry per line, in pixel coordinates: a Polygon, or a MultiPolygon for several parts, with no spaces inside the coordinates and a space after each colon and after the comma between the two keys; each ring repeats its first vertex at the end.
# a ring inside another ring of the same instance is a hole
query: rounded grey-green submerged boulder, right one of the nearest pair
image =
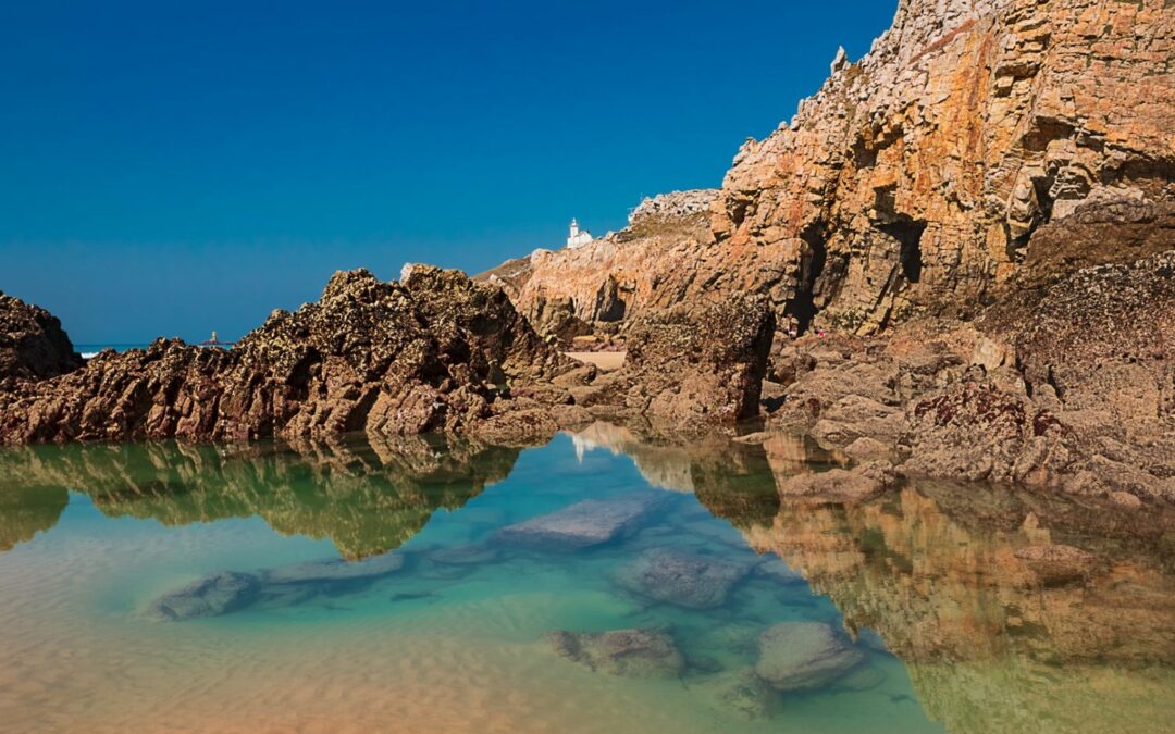
{"type": "Polygon", "coordinates": [[[759,638],[754,672],[778,691],[820,688],[865,659],[822,622],[784,622],[759,638]]]}

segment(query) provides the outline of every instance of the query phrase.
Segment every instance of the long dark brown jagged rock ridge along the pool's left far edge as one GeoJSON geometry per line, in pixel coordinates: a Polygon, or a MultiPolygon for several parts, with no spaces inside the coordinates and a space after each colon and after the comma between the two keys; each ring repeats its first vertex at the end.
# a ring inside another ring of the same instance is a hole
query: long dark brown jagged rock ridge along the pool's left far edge
{"type": "MultiPolygon", "coordinates": [[[[491,417],[501,438],[512,427],[508,388],[573,366],[497,288],[427,265],[404,283],[356,270],[231,350],[161,339],[0,393],[0,443],[411,435],[491,417]]],[[[538,423],[517,425],[553,435],[553,422],[538,423]]]]}

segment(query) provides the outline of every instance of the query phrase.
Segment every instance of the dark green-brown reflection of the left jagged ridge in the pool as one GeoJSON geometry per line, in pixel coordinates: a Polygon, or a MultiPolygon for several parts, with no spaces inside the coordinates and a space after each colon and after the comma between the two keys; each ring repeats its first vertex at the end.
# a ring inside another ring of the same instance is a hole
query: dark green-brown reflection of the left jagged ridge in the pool
{"type": "MultiPolygon", "coordinates": [[[[274,530],[329,538],[347,558],[392,550],[415,536],[439,507],[456,509],[486,484],[504,479],[518,451],[419,438],[395,444],[308,444],[247,449],[136,444],[36,446],[0,452],[0,543],[12,518],[32,525],[35,486],[90,496],[109,516],[186,525],[258,516],[274,530]]],[[[35,499],[35,501],[34,501],[35,499]]],[[[56,511],[60,513],[60,509],[56,511]]],[[[40,516],[36,516],[40,517],[40,516]]],[[[15,541],[52,526],[56,516],[15,541]]],[[[9,544],[11,545],[11,544],[9,544]]],[[[0,547],[4,547],[0,545],[0,547]]]]}

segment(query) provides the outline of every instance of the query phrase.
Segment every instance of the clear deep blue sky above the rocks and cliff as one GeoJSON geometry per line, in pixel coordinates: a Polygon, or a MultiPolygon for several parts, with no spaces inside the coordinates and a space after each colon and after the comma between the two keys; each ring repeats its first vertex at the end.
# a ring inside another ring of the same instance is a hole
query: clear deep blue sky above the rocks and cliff
{"type": "Polygon", "coordinates": [[[0,290],[236,337],[337,269],[477,272],[721,182],[895,0],[0,4],[0,290]]]}

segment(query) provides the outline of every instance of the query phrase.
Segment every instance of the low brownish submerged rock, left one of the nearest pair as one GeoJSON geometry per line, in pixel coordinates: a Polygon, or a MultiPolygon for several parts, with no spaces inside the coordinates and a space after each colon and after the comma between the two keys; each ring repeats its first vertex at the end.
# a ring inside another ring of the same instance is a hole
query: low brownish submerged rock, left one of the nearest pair
{"type": "Polygon", "coordinates": [[[548,634],[555,654],[609,675],[672,676],[685,667],[673,638],[660,629],[548,634]]]}

